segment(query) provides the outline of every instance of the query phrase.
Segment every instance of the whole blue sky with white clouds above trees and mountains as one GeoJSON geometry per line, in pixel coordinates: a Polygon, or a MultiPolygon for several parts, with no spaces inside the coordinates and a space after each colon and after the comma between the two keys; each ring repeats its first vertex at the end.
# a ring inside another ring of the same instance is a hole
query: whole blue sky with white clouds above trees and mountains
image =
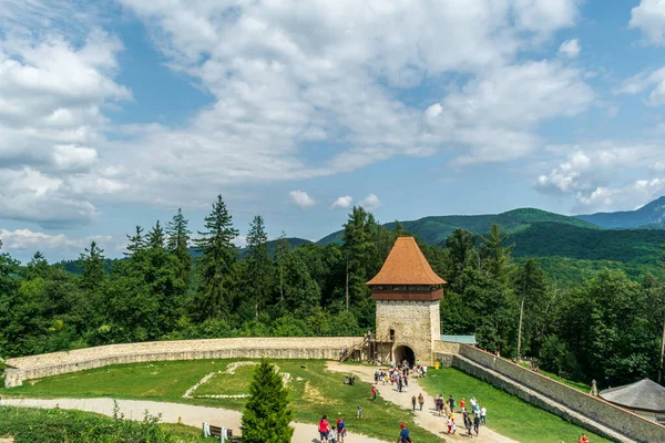
{"type": "Polygon", "coordinates": [[[665,0],[0,0],[2,250],[634,209],[664,111],[665,0]]]}

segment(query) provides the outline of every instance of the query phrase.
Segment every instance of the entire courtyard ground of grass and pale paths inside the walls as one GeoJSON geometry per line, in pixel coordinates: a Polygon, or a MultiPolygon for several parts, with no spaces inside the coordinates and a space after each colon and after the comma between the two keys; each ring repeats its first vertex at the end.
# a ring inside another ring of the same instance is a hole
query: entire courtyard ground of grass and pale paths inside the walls
{"type": "MultiPolygon", "coordinates": [[[[431,395],[452,393],[456,399],[475,395],[488,408],[488,426],[482,427],[480,437],[473,440],[487,443],[509,442],[576,442],[584,432],[546,411],[540,410],[497,390],[488,383],[466,375],[454,369],[431,370],[421,387],[411,382],[409,393],[398,393],[389,384],[379,385],[379,398],[370,400],[370,382],[375,367],[359,364],[339,364],[319,360],[293,361],[273,360],[288,379],[291,406],[295,410],[296,436],[294,442],[313,443],[316,423],[323,414],[330,422],[342,416],[350,434],[356,439],[347,442],[392,442],[397,439],[398,425],[405,422],[418,443],[467,440],[460,435],[447,435],[443,432],[443,419],[433,413],[431,395]],[[303,368],[301,365],[306,365],[303,368]],[[359,375],[354,385],[344,385],[345,374],[359,375]],[[418,392],[417,392],[418,391],[418,392]],[[411,412],[410,399],[422,391],[426,395],[426,410],[411,412]],[[360,404],[364,418],[357,420],[356,408],[360,404]],[[301,435],[301,436],[300,436],[301,435]],[[364,435],[377,440],[362,439],[364,435]],[[303,440],[304,439],[304,440],[303,440]],[[307,440],[309,439],[309,440],[307,440]]],[[[98,408],[95,401],[108,402],[111,398],[137,401],[152,401],[151,413],[163,413],[164,420],[183,422],[197,427],[204,421],[219,424],[221,420],[239,427],[241,412],[246,399],[247,385],[252,378],[255,361],[239,360],[197,360],[121,364],[83,372],[27,381],[23,387],[6,389],[3,395],[41,398],[43,400],[68,398],[66,402],[76,409],[98,408]],[[206,379],[204,383],[202,379],[206,379]],[[188,394],[188,395],[185,395],[188,394]],[[211,395],[224,398],[209,398],[211,395]],[[188,396],[188,398],[187,398],[188,396]],[[99,400],[84,400],[84,399],[99,400]],[[106,398],[106,399],[100,399],[106,398]],[[173,403],[185,403],[173,404],[173,403]],[[207,406],[197,409],[201,406],[207,406]],[[191,409],[194,408],[194,409],[191,409]],[[217,420],[203,420],[204,418],[217,420]]],[[[14,402],[16,400],[10,400],[14,402]]],[[[53,405],[53,402],[44,404],[53,405]]],[[[100,406],[106,403],[99,403],[100,406]]],[[[127,411],[142,416],[143,409],[135,403],[121,402],[127,411]],[[139,408],[139,409],[136,409],[139,408]]],[[[105,406],[104,406],[105,408],[105,406]]],[[[101,411],[96,411],[101,412],[101,411]]],[[[127,414],[129,415],[129,414],[127,414]]],[[[605,440],[591,435],[592,442],[605,440]]]]}

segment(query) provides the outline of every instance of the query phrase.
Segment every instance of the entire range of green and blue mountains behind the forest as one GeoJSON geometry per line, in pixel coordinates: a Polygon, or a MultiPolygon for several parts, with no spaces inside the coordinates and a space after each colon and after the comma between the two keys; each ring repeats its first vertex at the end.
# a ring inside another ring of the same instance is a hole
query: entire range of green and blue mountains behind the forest
{"type": "MultiPolygon", "coordinates": [[[[444,245],[456,228],[485,235],[493,223],[510,236],[513,256],[520,260],[539,257],[550,270],[591,271],[621,268],[633,277],[655,272],[665,244],[665,197],[636,210],[565,216],[535,208],[513,209],[489,215],[430,216],[400,222],[405,229],[431,245],[444,245]],[[562,269],[564,267],[565,269],[562,269]],[[584,269],[582,269],[584,268],[584,269]]],[[[395,222],[385,227],[392,229],[395,222]]],[[[341,230],[318,245],[341,241],[341,230]]],[[[307,240],[289,238],[289,243],[307,240]]]]}

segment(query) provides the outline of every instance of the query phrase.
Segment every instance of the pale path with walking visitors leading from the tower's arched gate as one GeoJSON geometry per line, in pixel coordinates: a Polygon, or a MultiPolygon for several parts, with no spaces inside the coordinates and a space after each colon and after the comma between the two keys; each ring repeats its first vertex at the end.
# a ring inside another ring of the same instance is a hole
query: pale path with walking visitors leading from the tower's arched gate
{"type": "MultiPolygon", "coordinates": [[[[368,383],[374,383],[374,373],[376,368],[374,367],[362,367],[362,365],[348,365],[348,364],[341,364],[335,361],[328,362],[327,363],[328,370],[330,371],[336,371],[336,372],[342,372],[342,373],[355,373],[356,375],[360,377],[360,380],[366,381],[368,383]]],[[[422,409],[422,411],[419,411],[418,408],[416,409],[416,416],[413,419],[413,421],[416,422],[417,425],[419,425],[420,427],[441,436],[442,439],[446,439],[447,441],[469,441],[469,437],[462,436],[459,434],[460,432],[460,427],[458,427],[458,434],[448,434],[447,431],[448,429],[446,427],[446,423],[443,421],[442,416],[439,416],[437,414],[437,412],[434,411],[434,399],[429,395],[421,387],[420,384],[418,384],[418,379],[411,379],[409,378],[409,392],[398,392],[397,388],[391,387],[390,383],[388,384],[378,384],[377,385],[378,390],[379,390],[379,394],[385,399],[388,400],[389,402],[392,402],[395,404],[397,404],[400,408],[403,408],[406,410],[411,410],[411,396],[416,395],[418,396],[418,394],[422,393],[422,396],[424,396],[424,406],[422,409]],[[443,431],[446,427],[446,432],[443,431]]],[[[461,416],[461,414],[458,414],[461,416]]],[[[458,421],[458,420],[456,420],[458,421]]],[[[459,424],[458,424],[459,426],[459,424]]],[[[466,432],[466,431],[464,431],[466,432]]],[[[491,429],[487,427],[487,426],[481,426],[480,427],[480,435],[477,437],[475,434],[473,434],[473,437],[471,439],[474,442],[478,443],[516,443],[514,440],[511,440],[507,436],[503,436],[501,434],[498,434],[497,432],[492,431],[491,429]]]]}

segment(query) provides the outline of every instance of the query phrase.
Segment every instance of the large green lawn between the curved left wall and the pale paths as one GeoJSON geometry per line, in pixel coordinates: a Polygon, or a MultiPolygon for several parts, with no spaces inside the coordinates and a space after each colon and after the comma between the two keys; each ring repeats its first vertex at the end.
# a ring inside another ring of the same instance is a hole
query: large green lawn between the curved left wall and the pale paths
{"type": "MultiPolygon", "coordinates": [[[[130,400],[154,400],[235,409],[242,411],[245,399],[183,399],[182,395],[204,375],[226,370],[237,360],[165,361],[152,363],[119,364],[89,371],[27,381],[22,387],[4,389],[4,395],[47,398],[98,398],[112,396],[130,400]]],[[[344,385],[344,374],[325,370],[321,360],[273,360],[280,372],[287,372],[291,406],[295,419],[317,423],[323,414],[332,422],[345,418],[349,432],[357,432],[386,441],[393,441],[399,423],[405,422],[418,443],[440,443],[441,439],[413,424],[413,414],[380,398],[370,400],[370,384],[357,381],[354,387],[344,385]],[[300,368],[306,363],[307,368],[300,368]],[[362,406],[364,418],[356,419],[356,409],[362,406]]],[[[194,395],[238,394],[247,387],[253,367],[242,367],[236,374],[217,374],[208,384],[200,387],[194,395]]]]}

